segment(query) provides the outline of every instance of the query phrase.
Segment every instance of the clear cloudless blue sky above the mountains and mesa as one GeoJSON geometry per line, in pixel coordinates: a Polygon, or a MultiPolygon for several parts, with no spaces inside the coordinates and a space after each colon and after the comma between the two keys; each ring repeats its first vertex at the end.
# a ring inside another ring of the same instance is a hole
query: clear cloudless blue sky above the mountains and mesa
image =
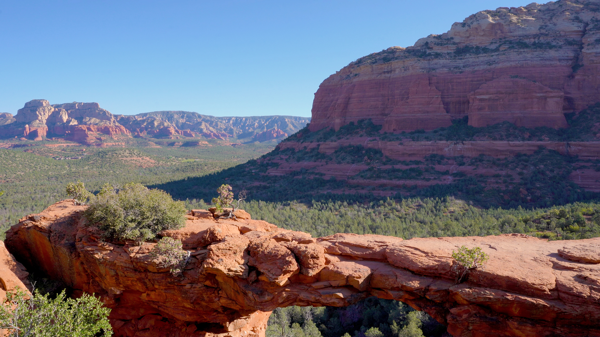
{"type": "Polygon", "coordinates": [[[310,116],[349,62],[515,0],[0,2],[0,112],[98,102],[116,114],[310,116]]]}

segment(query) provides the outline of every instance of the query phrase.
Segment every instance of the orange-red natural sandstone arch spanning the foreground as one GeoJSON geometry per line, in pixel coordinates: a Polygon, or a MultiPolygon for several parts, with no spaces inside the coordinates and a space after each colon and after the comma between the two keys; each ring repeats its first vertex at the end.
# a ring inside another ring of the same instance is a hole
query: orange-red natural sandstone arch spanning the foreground
{"type": "Polygon", "coordinates": [[[314,239],[265,221],[209,219],[161,233],[191,253],[173,277],[148,252],[116,245],[60,201],[22,218],[7,248],[29,268],[112,308],[115,336],[264,336],[274,308],[346,306],[368,296],[426,311],[454,336],[600,335],[600,239],[545,242],[522,234],[402,240],[335,234],[314,239]],[[490,260],[454,284],[452,250],[490,260]]]}

